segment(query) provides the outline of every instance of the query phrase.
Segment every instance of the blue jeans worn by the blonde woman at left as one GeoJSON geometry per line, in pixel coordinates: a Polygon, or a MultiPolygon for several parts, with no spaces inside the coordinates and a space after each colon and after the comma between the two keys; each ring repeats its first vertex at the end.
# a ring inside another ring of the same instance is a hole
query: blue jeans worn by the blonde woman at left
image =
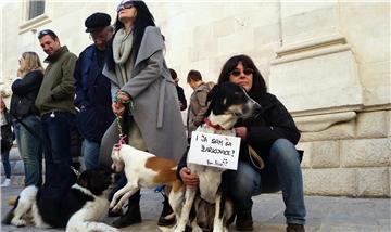
{"type": "MultiPolygon", "coordinates": [[[[30,115],[22,119],[29,130],[41,134],[41,125],[37,116],[30,115]]],[[[39,138],[31,134],[21,123],[14,123],[18,152],[23,159],[25,185],[42,184],[42,144],[39,138]]]]}

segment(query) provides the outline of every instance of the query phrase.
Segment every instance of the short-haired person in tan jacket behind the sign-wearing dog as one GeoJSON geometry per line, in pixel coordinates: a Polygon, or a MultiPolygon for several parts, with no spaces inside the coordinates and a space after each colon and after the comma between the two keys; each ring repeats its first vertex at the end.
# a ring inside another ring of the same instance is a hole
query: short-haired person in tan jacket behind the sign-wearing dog
{"type": "Polygon", "coordinates": [[[194,90],[190,96],[187,115],[187,132],[188,141],[190,142],[191,132],[202,124],[204,118],[204,114],[207,109],[206,98],[211,89],[202,81],[201,73],[198,70],[189,72],[187,82],[194,90]]]}

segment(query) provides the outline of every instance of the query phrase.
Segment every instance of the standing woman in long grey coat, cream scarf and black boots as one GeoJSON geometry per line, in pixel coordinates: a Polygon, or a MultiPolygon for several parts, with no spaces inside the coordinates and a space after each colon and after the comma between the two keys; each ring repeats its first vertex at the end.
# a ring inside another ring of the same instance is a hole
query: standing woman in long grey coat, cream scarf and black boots
{"type": "MultiPolygon", "coordinates": [[[[163,36],[144,2],[121,2],[111,44],[103,74],[111,80],[112,108],[122,118],[122,132],[139,150],[179,160],[188,144],[178,96],[164,61],[163,36]]],[[[102,139],[101,163],[111,164],[111,150],[118,136],[115,120],[102,139]]],[[[130,197],[127,212],[113,222],[114,227],[141,221],[139,199],[139,192],[130,197]]],[[[167,207],[165,201],[160,225],[174,222],[164,219],[169,212],[167,207]]]]}

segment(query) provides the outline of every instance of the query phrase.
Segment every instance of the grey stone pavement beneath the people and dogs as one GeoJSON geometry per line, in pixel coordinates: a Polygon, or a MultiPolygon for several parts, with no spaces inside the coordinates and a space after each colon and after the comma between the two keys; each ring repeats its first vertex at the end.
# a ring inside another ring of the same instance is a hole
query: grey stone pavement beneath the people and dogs
{"type": "MultiPolygon", "coordinates": [[[[7,204],[10,196],[15,196],[21,191],[21,186],[12,185],[1,188],[1,218],[11,206],[7,204]]],[[[141,192],[141,215],[142,223],[130,225],[122,231],[167,231],[166,228],[157,228],[156,221],[162,210],[163,197],[152,190],[141,192]]],[[[264,194],[254,199],[253,218],[254,231],[279,232],[285,231],[283,202],[280,194],[264,194]]],[[[346,197],[325,197],[305,196],[307,208],[306,231],[307,232],[389,232],[391,231],[391,199],[390,198],[346,198],[346,197]]],[[[105,218],[110,223],[113,219],[105,218]]],[[[58,232],[64,230],[40,230],[31,227],[15,228],[1,225],[1,231],[12,232],[58,232]]],[[[231,232],[236,231],[231,225],[231,232]]]]}

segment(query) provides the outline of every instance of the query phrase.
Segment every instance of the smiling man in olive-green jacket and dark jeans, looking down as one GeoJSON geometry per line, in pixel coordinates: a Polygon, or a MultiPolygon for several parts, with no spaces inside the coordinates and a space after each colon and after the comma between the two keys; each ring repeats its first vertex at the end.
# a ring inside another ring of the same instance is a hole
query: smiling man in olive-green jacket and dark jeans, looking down
{"type": "Polygon", "coordinates": [[[38,33],[40,46],[49,63],[35,105],[41,116],[45,150],[45,185],[68,186],[75,182],[71,169],[71,128],[74,125],[75,79],[77,56],[61,46],[54,31],[38,33]]]}

